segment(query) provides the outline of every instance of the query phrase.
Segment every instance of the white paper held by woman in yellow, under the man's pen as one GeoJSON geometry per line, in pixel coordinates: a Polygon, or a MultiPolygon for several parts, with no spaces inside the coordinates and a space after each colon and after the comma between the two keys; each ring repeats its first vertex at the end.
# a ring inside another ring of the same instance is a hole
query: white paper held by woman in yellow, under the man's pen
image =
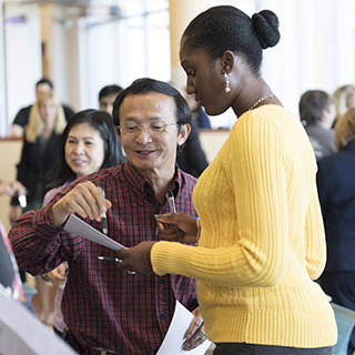
{"type": "Polygon", "coordinates": [[[78,219],[74,214],[71,214],[68,219],[64,230],[69,233],[80,235],[91,242],[113,248],[114,251],[125,248],[125,246],[104,235],[84,221],[78,219]]]}

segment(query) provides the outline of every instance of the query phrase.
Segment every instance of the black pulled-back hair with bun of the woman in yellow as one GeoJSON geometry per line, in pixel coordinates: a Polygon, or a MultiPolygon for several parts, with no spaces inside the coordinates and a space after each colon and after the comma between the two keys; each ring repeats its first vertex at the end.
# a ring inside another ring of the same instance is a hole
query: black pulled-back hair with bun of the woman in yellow
{"type": "Polygon", "coordinates": [[[211,61],[231,50],[243,57],[255,74],[260,74],[263,49],[280,41],[278,19],[270,10],[250,18],[232,6],[213,7],[190,22],[183,40],[189,50],[204,49],[211,61]]]}

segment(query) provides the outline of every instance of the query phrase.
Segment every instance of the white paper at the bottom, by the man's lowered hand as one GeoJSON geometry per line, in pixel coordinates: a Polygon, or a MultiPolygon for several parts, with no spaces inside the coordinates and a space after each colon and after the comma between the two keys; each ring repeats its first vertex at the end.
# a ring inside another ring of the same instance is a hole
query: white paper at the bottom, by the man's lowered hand
{"type": "Polygon", "coordinates": [[[207,339],[190,352],[184,352],[181,348],[182,344],[184,343],[184,334],[187,331],[193,317],[194,315],[189,310],[186,310],[179,301],[176,301],[173,318],[156,355],[205,354],[211,345],[211,342],[207,339]]]}

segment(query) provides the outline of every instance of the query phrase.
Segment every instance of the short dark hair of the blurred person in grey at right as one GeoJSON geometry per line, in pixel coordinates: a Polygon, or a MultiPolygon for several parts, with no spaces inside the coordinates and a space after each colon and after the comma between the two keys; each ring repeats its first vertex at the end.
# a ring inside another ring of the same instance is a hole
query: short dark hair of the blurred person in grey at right
{"type": "Polygon", "coordinates": [[[300,100],[300,119],[304,125],[322,120],[322,111],[328,110],[333,98],[322,90],[308,90],[300,100]]]}

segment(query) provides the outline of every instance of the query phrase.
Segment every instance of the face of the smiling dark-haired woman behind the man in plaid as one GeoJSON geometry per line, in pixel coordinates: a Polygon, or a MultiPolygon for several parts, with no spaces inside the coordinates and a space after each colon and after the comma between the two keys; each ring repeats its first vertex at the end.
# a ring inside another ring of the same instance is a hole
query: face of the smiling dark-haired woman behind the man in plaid
{"type": "Polygon", "coordinates": [[[104,161],[104,142],[100,132],[89,123],[78,123],[69,131],[65,162],[77,178],[99,171],[104,161]]]}

